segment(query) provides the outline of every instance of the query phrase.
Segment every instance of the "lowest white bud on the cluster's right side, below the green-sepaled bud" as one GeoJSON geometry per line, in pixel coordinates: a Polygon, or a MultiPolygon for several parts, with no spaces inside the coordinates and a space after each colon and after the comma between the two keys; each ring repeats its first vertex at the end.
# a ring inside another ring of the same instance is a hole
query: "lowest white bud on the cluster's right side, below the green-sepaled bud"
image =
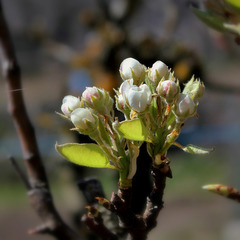
{"type": "Polygon", "coordinates": [[[178,122],[192,117],[196,113],[197,104],[186,94],[180,93],[175,103],[174,113],[178,122]]]}

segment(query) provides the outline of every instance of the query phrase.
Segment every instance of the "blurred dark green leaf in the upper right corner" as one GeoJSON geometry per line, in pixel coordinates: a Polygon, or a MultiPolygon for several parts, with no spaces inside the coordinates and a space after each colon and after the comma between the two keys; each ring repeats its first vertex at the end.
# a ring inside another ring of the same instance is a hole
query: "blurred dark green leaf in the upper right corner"
{"type": "Polygon", "coordinates": [[[205,24],[207,24],[209,27],[220,31],[220,32],[224,32],[224,20],[218,17],[213,16],[212,14],[208,13],[208,12],[203,12],[201,10],[198,10],[196,8],[193,8],[193,12],[195,13],[195,15],[202,20],[205,24]]]}

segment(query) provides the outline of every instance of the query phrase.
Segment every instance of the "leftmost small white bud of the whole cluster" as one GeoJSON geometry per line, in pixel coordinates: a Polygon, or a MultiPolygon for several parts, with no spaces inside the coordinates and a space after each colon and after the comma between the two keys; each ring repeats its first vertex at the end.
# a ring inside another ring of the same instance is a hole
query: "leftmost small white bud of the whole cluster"
{"type": "Polygon", "coordinates": [[[65,96],[62,100],[61,110],[67,117],[70,117],[73,110],[80,108],[80,99],[71,95],[65,96]]]}

